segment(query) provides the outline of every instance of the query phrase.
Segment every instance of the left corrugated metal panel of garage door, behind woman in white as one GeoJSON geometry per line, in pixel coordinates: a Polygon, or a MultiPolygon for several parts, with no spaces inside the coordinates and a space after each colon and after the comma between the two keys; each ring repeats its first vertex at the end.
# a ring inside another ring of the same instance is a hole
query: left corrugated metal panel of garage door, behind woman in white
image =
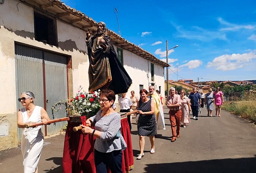
{"type": "MultiPolygon", "coordinates": [[[[15,45],[17,108],[22,108],[18,98],[21,93],[31,91],[35,95],[34,104],[44,107],[43,95],[43,52],[41,50],[15,45]]],[[[18,139],[21,128],[18,128],[18,139]]]]}

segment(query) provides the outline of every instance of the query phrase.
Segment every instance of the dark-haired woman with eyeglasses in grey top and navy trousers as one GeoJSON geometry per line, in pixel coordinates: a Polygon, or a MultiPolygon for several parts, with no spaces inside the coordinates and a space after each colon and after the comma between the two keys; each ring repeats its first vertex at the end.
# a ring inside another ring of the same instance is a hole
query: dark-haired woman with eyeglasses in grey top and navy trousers
{"type": "Polygon", "coordinates": [[[122,150],[127,148],[127,144],[120,131],[121,117],[112,108],[116,96],[109,89],[102,89],[99,96],[101,110],[86,121],[89,126],[95,124],[95,129],[81,125],[82,133],[96,137],[94,162],[97,173],[107,173],[107,167],[112,173],[123,173],[122,150]]]}

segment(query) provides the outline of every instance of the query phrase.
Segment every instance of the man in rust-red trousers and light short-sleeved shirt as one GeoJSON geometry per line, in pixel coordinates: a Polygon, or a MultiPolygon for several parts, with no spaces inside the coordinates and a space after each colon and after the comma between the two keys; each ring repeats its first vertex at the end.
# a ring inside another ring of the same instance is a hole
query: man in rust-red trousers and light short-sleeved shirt
{"type": "Polygon", "coordinates": [[[167,97],[167,107],[169,110],[169,119],[171,122],[172,129],[172,140],[171,142],[176,141],[176,137],[179,137],[179,129],[180,129],[180,120],[181,120],[181,99],[178,94],[175,94],[175,88],[171,87],[169,91],[169,96],[167,97]],[[177,127],[177,135],[176,129],[177,127]]]}

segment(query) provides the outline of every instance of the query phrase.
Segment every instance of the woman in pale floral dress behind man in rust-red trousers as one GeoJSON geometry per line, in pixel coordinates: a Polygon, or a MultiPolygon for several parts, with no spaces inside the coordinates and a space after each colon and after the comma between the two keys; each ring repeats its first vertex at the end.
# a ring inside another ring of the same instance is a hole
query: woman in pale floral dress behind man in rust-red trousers
{"type": "Polygon", "coordinates": [[[191,111],[191,107],[188,101],[188,97],[185,96],[185,91],[181,90],[180,91],[180,99],[181,99],[181,123],[183,123],[183,127],[186,127],[187,123],[190,123],[190,118],[189,118],[189,111],[191,111]]]}

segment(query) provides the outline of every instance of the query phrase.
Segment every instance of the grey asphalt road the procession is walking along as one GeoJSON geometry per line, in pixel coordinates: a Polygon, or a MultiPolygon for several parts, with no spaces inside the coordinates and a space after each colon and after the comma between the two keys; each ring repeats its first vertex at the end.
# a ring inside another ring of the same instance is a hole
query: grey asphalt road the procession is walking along
{"type": "MultiPolygon", "coordinates": [[[[180,138],[171,143],[167,108],[164,112],[167,129],[158,130],[156,153],[149,153],[147,137],[141,160],[136,160],[139,154],[137,126],[132,125],[134,169],[130,173],[256,173],[254,125],[226,111],[222,111],[221,117],[208,117],[203,108],[198,121],[191,119],[187,128],[181,127],[180,138]]],[[[63,141],[64,135],[45,140],[39,173],[62,172],[63,141]]],[[[0,173],[22,173],[22,170],[19,148],[0,152],[0,173]]]]}

